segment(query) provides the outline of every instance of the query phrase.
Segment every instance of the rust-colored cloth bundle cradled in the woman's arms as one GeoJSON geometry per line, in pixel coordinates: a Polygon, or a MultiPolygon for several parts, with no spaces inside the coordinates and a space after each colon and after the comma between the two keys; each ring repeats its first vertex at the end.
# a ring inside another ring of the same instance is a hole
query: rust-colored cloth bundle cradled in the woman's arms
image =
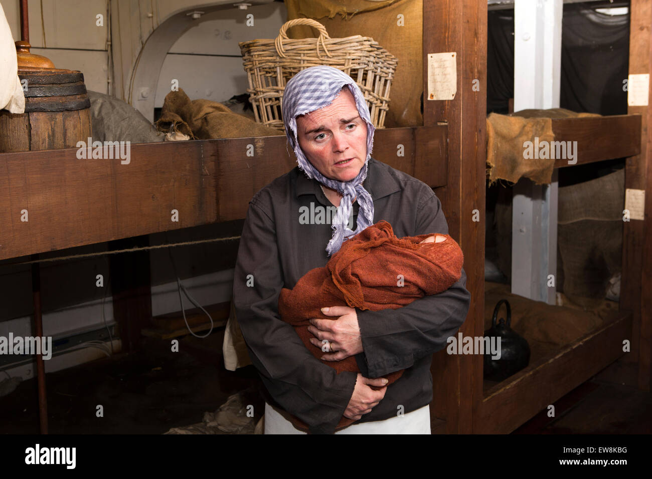
{"type": "MultiPolygon", "coordinates": [[[[308,271],[293,289],[283,288],[278,297],[278,313],[295,327],[297,334],[316,358],[325,353],[310,343],[310,319],[330,319],[321,313],[325,306],[350,306],[359,310],[398,309],[425,295],[446,291],[462,276],[464,255],[449,235],[430,233],[397,238],[391,225],[381,220],[342,244],[325,267],[308,271]],[[419,244],[435,234],[442,242],[419,244]]],[[[359,373],[354,356],[340,361],[323,361],[340,373],[359,373]]],[[[403,370],[387,375],[388,385],[403,370]]],[[[291,416],[295,427],[307,431],[291,416]]],[[[342,416],[336,431],[355,422],[342,416]]]]}

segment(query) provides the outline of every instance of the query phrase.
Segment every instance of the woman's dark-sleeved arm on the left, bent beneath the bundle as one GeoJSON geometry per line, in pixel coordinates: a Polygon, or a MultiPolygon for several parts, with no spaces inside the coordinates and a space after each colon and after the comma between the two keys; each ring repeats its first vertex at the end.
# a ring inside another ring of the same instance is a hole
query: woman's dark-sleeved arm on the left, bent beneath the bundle
{"type": "MultiPolygon", "coordinates": [[[[313,433],[333,433],[348,406],[356,373],[336,371],[316,359],[294,328],[278,315],[283,287],[271,209],[257,195],[244,221],[233,302],[250,358],[271,396],[313,433]]],[[[282,245],[294,248],[301,245],[282,245]]]]}

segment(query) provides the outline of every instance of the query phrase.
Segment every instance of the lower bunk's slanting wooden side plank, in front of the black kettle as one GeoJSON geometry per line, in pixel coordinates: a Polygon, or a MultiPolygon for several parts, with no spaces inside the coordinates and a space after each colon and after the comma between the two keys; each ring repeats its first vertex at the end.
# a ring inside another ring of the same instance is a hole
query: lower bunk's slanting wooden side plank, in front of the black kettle
{"type": "Polygon", "coordinates": [[[556,355],[543,358],[494,386],[479,405],[473,433],[511,433],[625,354],[619,338],[629,338],[631,331],[631,314],[620,313],[556,355]]]}

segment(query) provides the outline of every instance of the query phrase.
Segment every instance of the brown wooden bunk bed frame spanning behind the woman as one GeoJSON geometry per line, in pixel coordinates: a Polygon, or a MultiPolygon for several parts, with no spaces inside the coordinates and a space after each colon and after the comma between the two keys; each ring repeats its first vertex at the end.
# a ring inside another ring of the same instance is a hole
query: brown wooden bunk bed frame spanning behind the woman
{"type": "MultiPolygon", "coordinates": [[[[649,28],[637,26],[649,27],[649,8],[643,0],[632,0],[632,73],[649,72],[649,28]]],[[[425,101],[423,126],[377,130],[374,141],[375,158],[426,182],[441,199],[449,233],[466,259],[472,299],[464,336],[484,332],[486,10],[486,2],[477,0],[423,1],[424,85],[428,53],[455,51],[457,94],[454,100],[425,101]],[[473,80],[479,80],[479,92],[471,89],[473,80]],[[404,157],[389,154],[398,143],[405,147],[404,157]],[[471,220],[474,210],[480,222],[471,220]]],[[[629,156],[627,188],[652,191],[652,168],[647,175],[645,169],[647,108],[630,113],[556,120],[554,130],[559,139],[578,141],[585,152],[578,164],[629,156]],[[604,134],[604,144],[592,139],[597,132],[604,134]]],[[[132,145],[128,165],[78,160],[76,149],[0,154],[0,260],[104,241],[146,246],[150,233],[241,219],[250,197],[294,165],[284,136],[132,145]],[[247,145],[255,145],[253,157],[246,156],[247,145]],[[22,209],[29,210],[29,222],[20,221],[22,209]],[[171,223],[173,209],[179,211],[178,223],[171,223]]],[[[432,431],[513,431],[622,356],[614,337],[631,338],[638,386],[649,390],[651,326],[644,312],[652,310],[652,300],[641,295],[641,286],[649,291],[652,281],[642,276],[645,267],[652,267],[646,237],[652,238],[651,220],[625,227],[623,293],[615,321],[530,364],[487,394],[482,356],[445,350],[434,355],[432,431]]],[[[149,260],[146,254],[112,256],[117,257],[111,259],[115,319],[123,347],[133,349],[143,319],[151,315],[149,260]]]]}

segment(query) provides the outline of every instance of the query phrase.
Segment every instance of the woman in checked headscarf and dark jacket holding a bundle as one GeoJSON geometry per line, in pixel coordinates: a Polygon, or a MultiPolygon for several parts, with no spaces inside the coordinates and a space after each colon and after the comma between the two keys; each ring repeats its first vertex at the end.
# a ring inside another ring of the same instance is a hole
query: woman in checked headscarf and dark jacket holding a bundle
{"type": "Polygon", "coordinates": [[[464,270],[447,291],[398,310],[336,306],[323,313],[338,321],[311,320],[311,342],[323,346],[324,358],[355,356],[359,374],[337,374],[315,358],[278,316],[278,296],[379,220],[397,237],[448,234],[441,203],[423,182],[371,158],[374,126],[366,102],[340,70],[299,72],[288,81],[282,106],[299,165],[250,201],[233,282],[239,325],[268,393],[265,433],[299,433],[290,414],[312,433],[333,433],[342,416],[358,422],[338,433],[430,433],[430,362],[466,318],[464,270]],[[320,212],[332,206],[331,227],[320,212]],[[384,386],[383,375],[402,369],[396,383],[384,386]]]}

